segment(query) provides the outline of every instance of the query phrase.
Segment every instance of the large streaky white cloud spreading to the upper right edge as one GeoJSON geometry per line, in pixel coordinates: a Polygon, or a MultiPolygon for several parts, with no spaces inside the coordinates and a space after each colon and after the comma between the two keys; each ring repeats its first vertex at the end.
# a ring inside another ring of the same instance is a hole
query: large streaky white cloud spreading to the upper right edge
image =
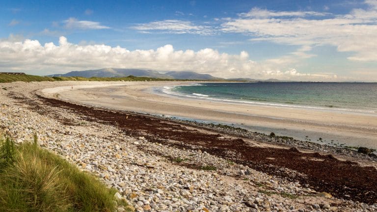
{"type": "MultiPolygon", "coordinates": [[[[305,19],[315,12],[275,12],[252,9],[222,24],[222,31],[249,35],[251,41],[272,41],[302,46],[332,45],[351,52],[354,61],[377,61],[377,0],[367,0],[368,9],[326,19],[305,19]],[[294,17],[291,17],[294,16],[294,17]],[[278,18],[276,18],[278,17],[278,18]]],[[[298,51],[293,54],[311,57],[298,51]]]]}

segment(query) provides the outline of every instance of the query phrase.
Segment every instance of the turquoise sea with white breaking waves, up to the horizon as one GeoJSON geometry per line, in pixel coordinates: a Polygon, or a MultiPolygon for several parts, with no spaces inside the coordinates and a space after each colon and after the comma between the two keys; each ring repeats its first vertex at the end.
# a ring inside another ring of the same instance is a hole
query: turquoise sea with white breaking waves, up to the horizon
{"type": "Polygon", "coordinates": [[[163,92],[223,102],[377,114],[377,83],[193,83],[164,87],[163,92]]]}

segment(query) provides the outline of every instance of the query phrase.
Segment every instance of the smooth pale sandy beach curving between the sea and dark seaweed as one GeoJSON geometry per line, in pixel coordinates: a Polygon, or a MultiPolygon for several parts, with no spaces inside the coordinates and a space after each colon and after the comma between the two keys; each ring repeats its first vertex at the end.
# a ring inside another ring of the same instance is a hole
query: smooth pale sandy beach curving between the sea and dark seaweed
{"type": "Polygon", "coordinates": [[[234,124],[300,140],[377,148],[377,116],[336,110],[256,106],[181,98],[155,87],[192,82],[123,82],[44,89],[47,96],[91,106],[234,124]]]}

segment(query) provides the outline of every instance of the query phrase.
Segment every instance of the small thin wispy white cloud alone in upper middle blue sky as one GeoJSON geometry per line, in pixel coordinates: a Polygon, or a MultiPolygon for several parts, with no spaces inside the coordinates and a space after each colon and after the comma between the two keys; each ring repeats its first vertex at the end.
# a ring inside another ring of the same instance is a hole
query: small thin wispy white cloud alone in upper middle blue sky
{"type": "Polygon", "coordinates": [[[132,27],[139,31],[150,31],[150,30],[159,30],[162,32],[173,33],[173,34],[202,34],[210,35],[214,34],[215,31],[208,26],[198,26],[194,25],[189,21],[180,21],[180,20],[164,20],[150,22],[146,24],[137,24],[135,27],[132,27]]]}

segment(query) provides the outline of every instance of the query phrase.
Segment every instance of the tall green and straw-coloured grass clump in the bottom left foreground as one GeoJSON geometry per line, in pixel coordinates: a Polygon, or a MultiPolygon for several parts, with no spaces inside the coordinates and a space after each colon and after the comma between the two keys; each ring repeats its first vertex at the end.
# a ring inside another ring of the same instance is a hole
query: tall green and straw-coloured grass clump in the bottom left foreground
{"type": "MultiPolygon", "coordinates": [[[[116,190],[33,143],[0,137],[1,212],[113,212],[116,190]]],[[[119,204],[125,204],[119,202],[119,204]]]]}

